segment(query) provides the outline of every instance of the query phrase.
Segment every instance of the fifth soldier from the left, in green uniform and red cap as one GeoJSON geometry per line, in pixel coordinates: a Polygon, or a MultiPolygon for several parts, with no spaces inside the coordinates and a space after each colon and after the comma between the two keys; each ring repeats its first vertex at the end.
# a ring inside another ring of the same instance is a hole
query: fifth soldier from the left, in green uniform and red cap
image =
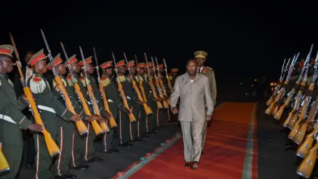
{"type": "MultiPolygon", "coordinates": [[[[105,121],[105,120],[107,120],[107,119],[109,119],[110,117],[111,117],[111,114],[109,114],[106,110],[105,110],[105,108],[104,108],[104,106],[103,106],[103,102],[101,101],[101,96],[100,96],[100,92],[99,92],[99,89],[98,89],[98,86],[96,85],[96,82],[95,82],[95,80],[92,78],[92,76],[91,76],[91,74],[93,74],[94,73],[94,67],[91,65],[91,63],[92,63],[92,60],[91,60],[91,57],[92,56],[90,56],[90,57],[88,57],[88,58],[86,58],[86,59],[84,59],[85,60],[85,64],[86,64],[86,72],[84,72],[84,71],[82,71],[82,74],[83,74],[83,76],[80,78],[80,81],[81,81],[81,83],[83,84],[83,86],[84,87],[86,87],[87,86],[87,84],[86,84],[86,81],[85,81],[85,73],[86,73],[86,75],[87,75],[87,80],[88,80],[88,82],[90,83],[90,85],[91,85],[91,88],[93,89],[93,93],[94,93],[94,96],[95,96],[95,98],[96,98],[96,101],[97,101],[97,105],[98,105],[98,110],[99,110],[99,112],[100,112],[100,115],[101,115],[101,117],[103,117],[103,118],[105,118],[105,119],[102,119],[102,121],[105,121]]],[[[84,63],[82,62],[82,61],[80,61],[79,62],[79,66],[83,66],[84,65],[84,63]]],[[[84,70],[84,69],[83,69],[84,70]]],[[[99,72],[97,72],[97,73],[99,73],[99,72]]],[[[88,92],[88,91],[87,91],[88,92]]],[[[92,107],[93,108],[93,107],[92,107]]],[[[100,121],[101,122],[101,121],[100,121]]],[[[103,136],[103,138],[104,138],[105,136],[103,136]]],[[[98,161],[102,161],[102,159],[100,159],[100,158],[96,158],[96,157],[93,157],[94,156],[94,147],[93,147],[93,143],[94,143],[94,140],[95,140],[95,138],[96,138],[96,135],[95,135],[95,133],[93,133],[93,132],[90,132],[89,133],[89,136],[87,136],[87,141],[89,142],[89,143],[91,143],[89,146],[91,146],[90,148],[89,148],[89,150],[87,151],[87,153],[85,154],[85,160],[87,160],[87,162],[92,162],[92,163],[96,163],[96,162],[98,162],[98,161]]],[[[104,139],[105,140],[105,139],[104,139]]]]}

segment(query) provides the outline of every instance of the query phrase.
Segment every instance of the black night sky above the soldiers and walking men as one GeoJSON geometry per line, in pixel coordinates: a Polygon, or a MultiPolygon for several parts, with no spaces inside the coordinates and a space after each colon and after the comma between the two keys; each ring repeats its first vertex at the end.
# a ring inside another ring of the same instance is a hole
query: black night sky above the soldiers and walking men
{"type": "MultiPolygon", "coordinates": [[[[64,58],[61,41],[69,56],[79,57],[79,45],[85,57],[92,56],[94,46],[100,64],[112,60],[112,51],[117,61],[125,52],[128,60],[137,54],[139,62],[146,52],[180,73],[194,51],[204,50],[218,80],[277,79],[285,57],[297,52],[306,57],[318,41],[317,7],[299,1],[66,1],[1,2],[7,18],[1,21],[0,44],[10,44],[11,32],[23,59],[26,51],[45,48],[42,28],[53,56],[64,58]]],[[[314,57],[317,50],[318,43],[314,57]]]]}

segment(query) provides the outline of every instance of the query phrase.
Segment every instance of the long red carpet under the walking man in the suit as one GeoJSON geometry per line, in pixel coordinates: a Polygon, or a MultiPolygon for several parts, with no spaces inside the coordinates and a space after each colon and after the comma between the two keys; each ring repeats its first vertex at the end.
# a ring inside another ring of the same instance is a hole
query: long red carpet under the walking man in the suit
{"type": "Polygon", "coordinates": [[[184,167],[180,139],[129,178],[257,179],[256,103],[224,103],[215,110],[197,170],[184,167]]]}

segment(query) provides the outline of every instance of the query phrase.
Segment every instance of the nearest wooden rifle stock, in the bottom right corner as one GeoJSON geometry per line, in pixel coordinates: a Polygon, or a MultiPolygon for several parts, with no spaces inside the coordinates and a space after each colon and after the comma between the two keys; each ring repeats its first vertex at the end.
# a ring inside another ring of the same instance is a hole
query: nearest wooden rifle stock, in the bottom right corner
{"type": "Polygon", "coordinates": [[[309,179],[313,173],[313,169],[317,160],[318,142],[309,150],[307,157],[299,165],[297,175],[309,179]]]}

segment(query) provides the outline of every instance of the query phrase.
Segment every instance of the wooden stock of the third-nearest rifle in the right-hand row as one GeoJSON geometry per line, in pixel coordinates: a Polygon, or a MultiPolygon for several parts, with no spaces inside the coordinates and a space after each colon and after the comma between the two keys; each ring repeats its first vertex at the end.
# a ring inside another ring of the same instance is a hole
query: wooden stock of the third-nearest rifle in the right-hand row
{"type": "MultiPolygon", "coordinates": [[[[311,84],[309,86],[309,90],[313,91],[314,90],[314,85],[311,84]]],[[[310,96],[309,95],[306,95],[305,97],[305,103],[304,103],[304,106],[302,108],[302,112],[304,111],[304,114],[300,114],[300,117],[303,116],[303,118],[301,119],[305,119],[306,118],[306,114],[307,114],[307,111],[308,111],[308,104],[310,102],[310,96]]],[[[312,116],[309,116],[306,120],[305,123],[303,123],[298,131],[298,133],[294,136],[293,138],[293,141],[296,143],[296,144],[301,144],[305,138],[305,134],[306,134],[306,131],[307,131],[307,127],[308,127],[308,124],[309,122],[311,122],[313,120],[313,117],[312,116]]]]}

